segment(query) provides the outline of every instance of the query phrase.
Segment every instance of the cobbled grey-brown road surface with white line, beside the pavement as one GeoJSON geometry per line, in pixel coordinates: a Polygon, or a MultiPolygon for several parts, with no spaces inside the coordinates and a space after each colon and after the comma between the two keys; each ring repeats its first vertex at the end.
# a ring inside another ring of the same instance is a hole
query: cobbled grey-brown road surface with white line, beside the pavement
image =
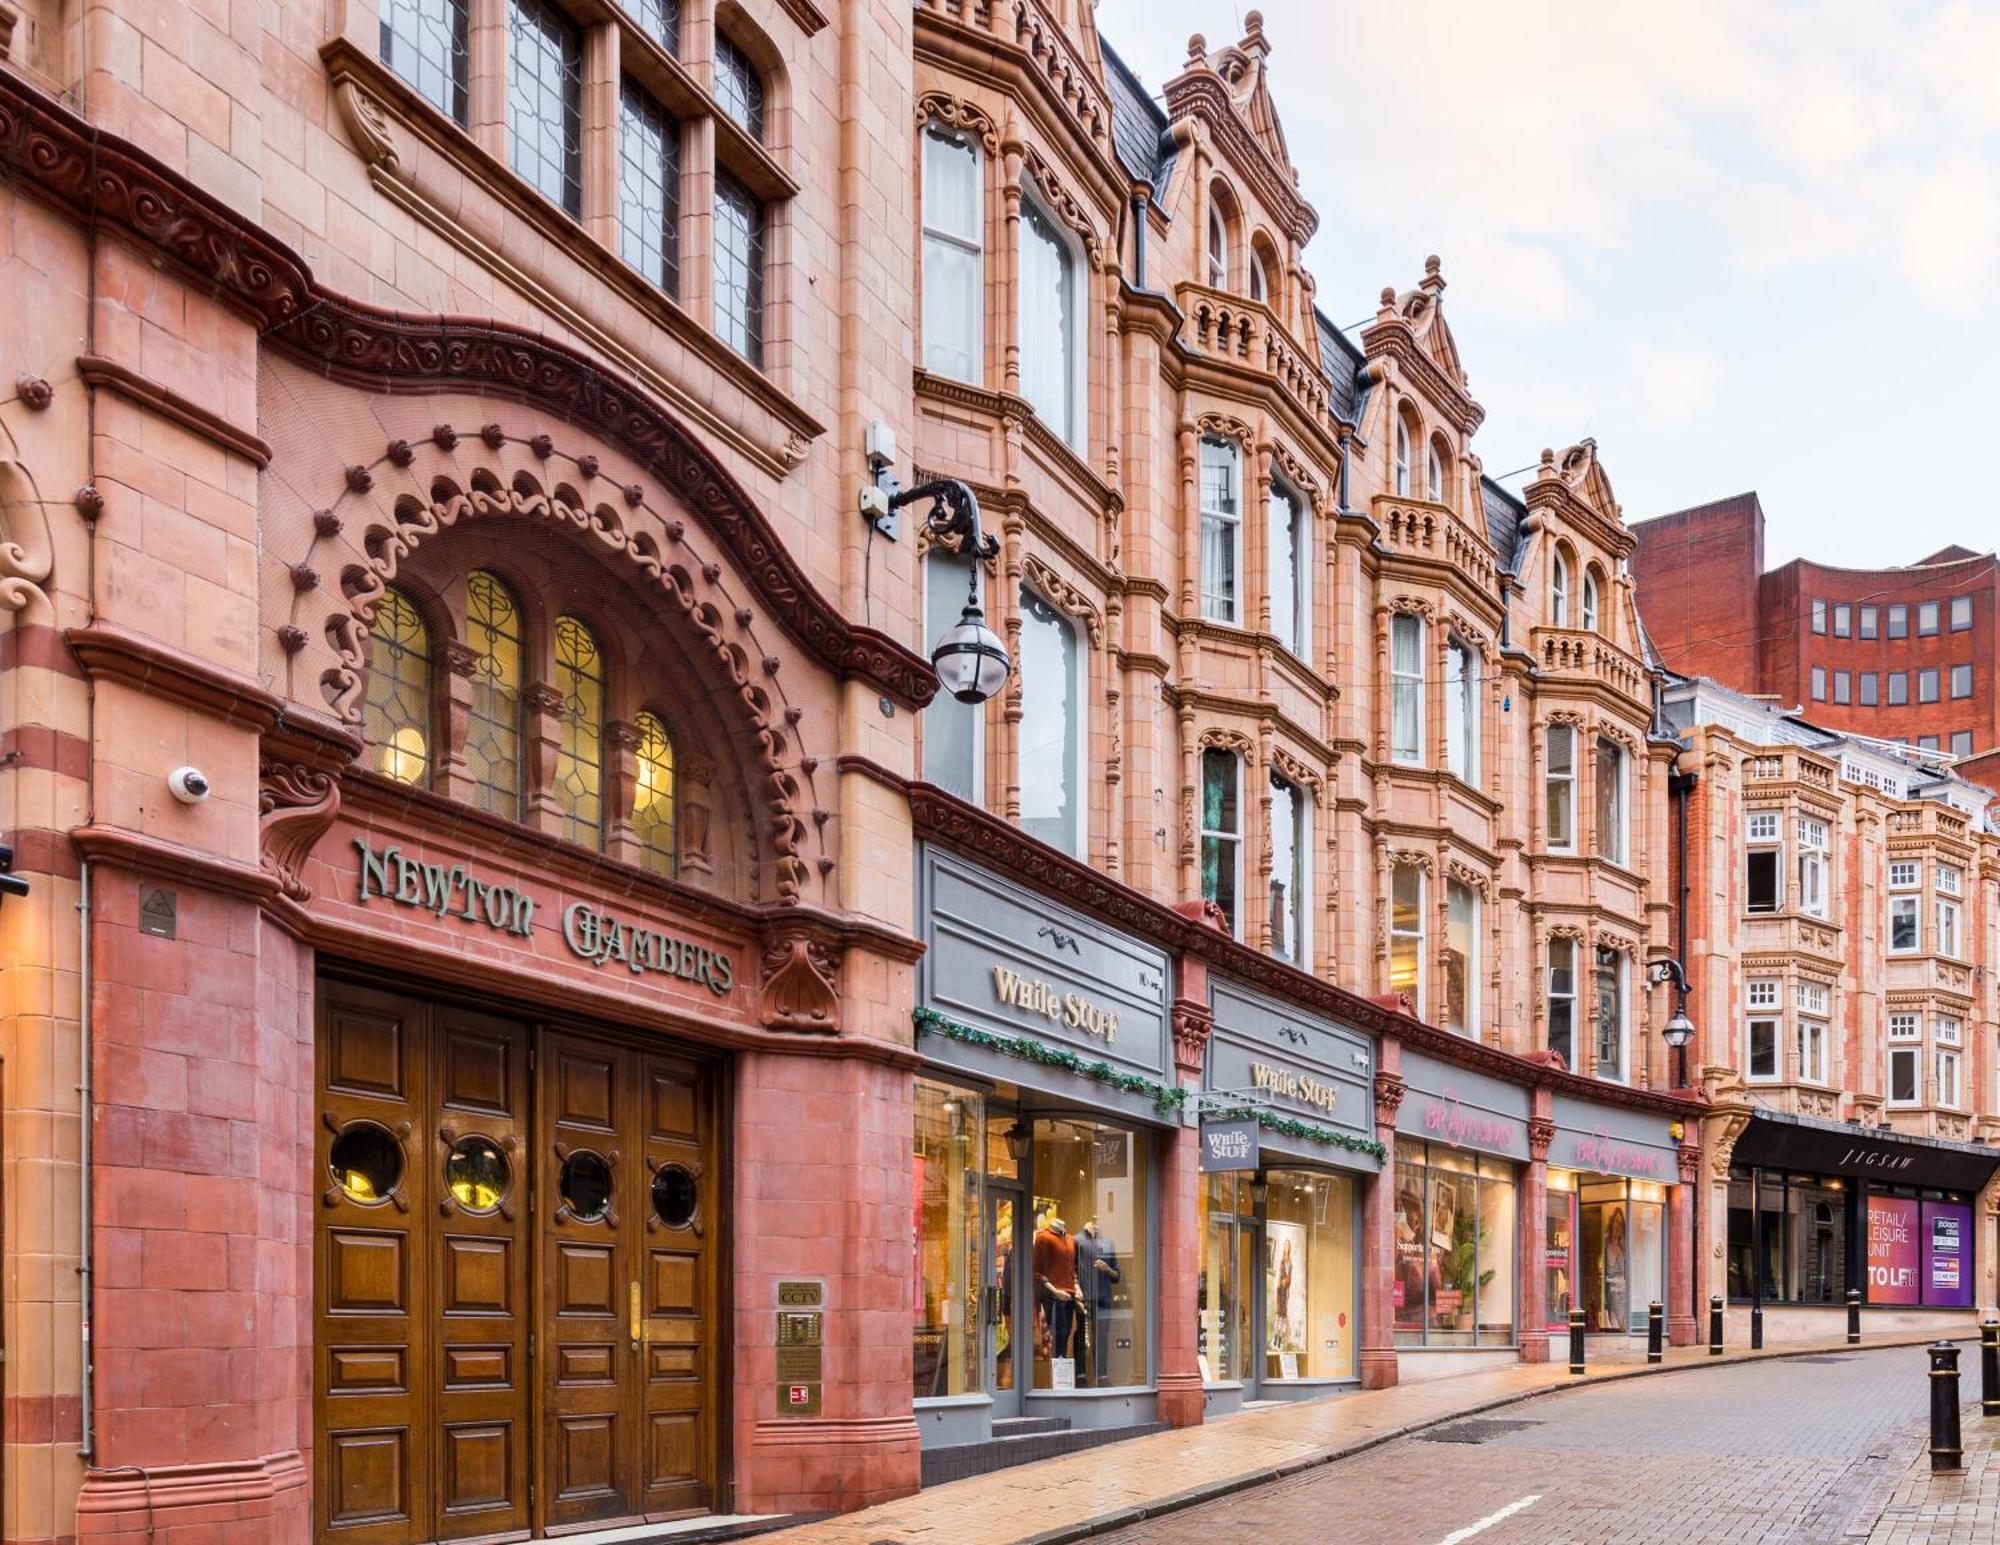
{"type": "MultiPolygon", "coordinates": [[[[1968,1389],[1976,1393],[1976,1361],[1968,1389]]],[[[1922,1353],[1750,1363],[1552,1395],[1400,1439],[1104,1539],[1370,1545],[1990,1541],[1978,1507],[1922,1517],[1922,1353]],[[1884,1517],[1892,1493],[1902,1499],[1884,1517]],[[1880,1527],[1874,1527],[1880,1519],[1880,1527]],[[1484,1527],[1482,1527],[1484,1525],[1484,1527]]],[[[1972,1445],[1980,1421],[1966,1413],[1972,1445]]],[[[1960,1483],[1952,1483],[1956,1497],[1960,1483]]],[[[1974,1485],[1974,1493],[1976,1493],[1974,1485]]]]}

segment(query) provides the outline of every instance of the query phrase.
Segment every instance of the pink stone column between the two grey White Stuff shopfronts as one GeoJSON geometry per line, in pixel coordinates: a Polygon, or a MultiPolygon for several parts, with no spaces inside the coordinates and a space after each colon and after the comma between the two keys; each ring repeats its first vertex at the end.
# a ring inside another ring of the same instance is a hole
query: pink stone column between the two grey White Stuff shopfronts
{"type": "MultiPolygon", "coordinates": [[[[1180,993],[1174,999],[1174,1075],[1182,1089],[1202,1087],[1208,1035],[1208,967],[1180,959],[1180,993]]],[[[1192,1093],[1190,1093],[1192,1099],[1192,1093]]],[[[1160,1421],[1196,1427],[1202,1421],[1202,1365],[1196,1361],[1196,1319],[1202,1277],[1202,1215],[1198,1207],[1202,1143],[1198,1127],[1178,1127],[1160,1143],[1160,1421]]]]}

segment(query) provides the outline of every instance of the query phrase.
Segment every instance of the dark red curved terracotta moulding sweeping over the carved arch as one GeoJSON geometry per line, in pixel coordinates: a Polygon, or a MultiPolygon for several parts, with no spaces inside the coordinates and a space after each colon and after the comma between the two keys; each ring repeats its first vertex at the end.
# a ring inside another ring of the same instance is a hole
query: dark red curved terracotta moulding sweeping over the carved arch
{"type": "Polygon", "coordinates": [[[710,526],[770,614],[828,670],[920,708],[930,662],[848,622],[786,552],[742,486],[688,430],[616,370],[490,318],[412,316],[334,294],[306,262],[130,140],[0,70],[0,170],[84,220],[122,228],[212,286],[260,334],[330,376],[380,392],[510,396],[620,444],[710,526]]]}

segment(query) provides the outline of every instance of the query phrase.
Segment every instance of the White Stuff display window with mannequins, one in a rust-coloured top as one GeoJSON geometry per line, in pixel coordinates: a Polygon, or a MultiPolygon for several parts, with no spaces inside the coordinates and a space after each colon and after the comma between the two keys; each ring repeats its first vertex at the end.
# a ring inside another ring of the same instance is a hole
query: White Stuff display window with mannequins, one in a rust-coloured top
{"type": "Polygon", "coordinates": [[[1144,1133],[1034,1123],[1034,1389],[1146,1383],[1150,1163],[1144,1133]]]}

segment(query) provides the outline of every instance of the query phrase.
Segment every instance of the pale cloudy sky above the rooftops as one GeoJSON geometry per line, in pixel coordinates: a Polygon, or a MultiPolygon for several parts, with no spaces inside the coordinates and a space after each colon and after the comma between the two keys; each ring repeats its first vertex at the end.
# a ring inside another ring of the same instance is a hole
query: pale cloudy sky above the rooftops
{"type": "MultiPolygon", "coordinates": [[[[1150,92],[1232,0],[1102,0],[1150,92]]],[[[1768,566],[1990,550],[2000,2],[1264,0],[1322,310],[1444,260],[1500,476],[1590,434],[1626,520],[1754,488],[1768,566]]],[[[1520,488],[1524,478],[1504,478],[1520,488]]]]}

